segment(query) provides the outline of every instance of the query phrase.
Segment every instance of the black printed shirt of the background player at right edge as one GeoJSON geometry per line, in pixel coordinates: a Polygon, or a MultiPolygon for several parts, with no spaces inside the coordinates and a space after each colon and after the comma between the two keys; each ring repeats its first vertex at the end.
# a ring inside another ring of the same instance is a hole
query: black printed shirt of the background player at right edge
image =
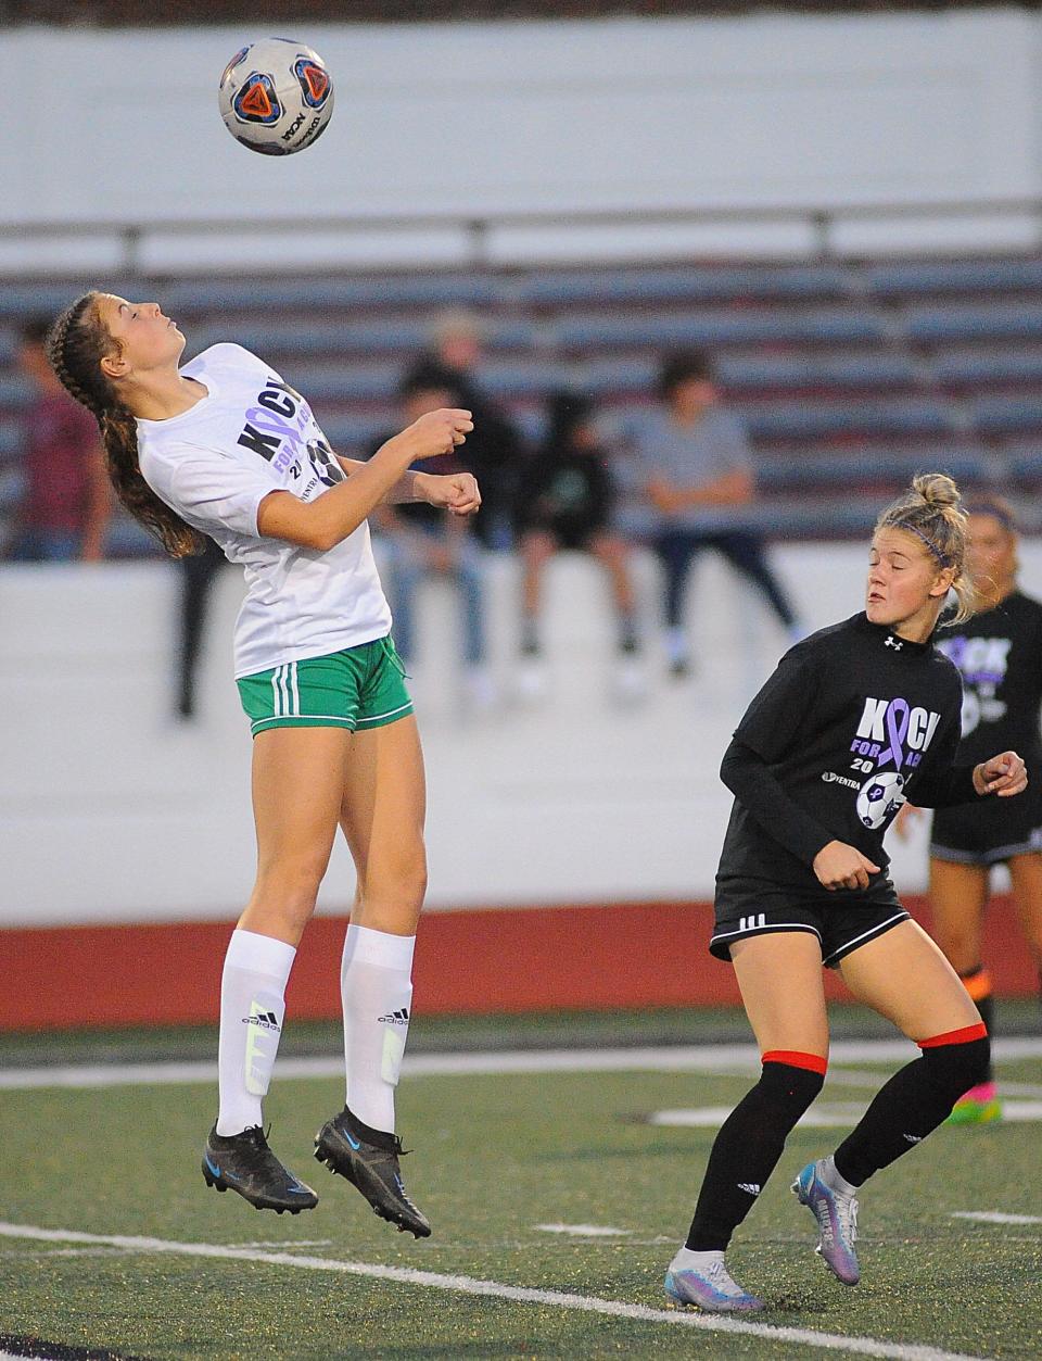
{"type": "Polygon", "coordinates": [[[1013,591],[1001,604],[941,630],[937,648],[959,668],[963,685],[959,761],[1016,751],[1042,766],[1042,604],[1013,591]]]}

